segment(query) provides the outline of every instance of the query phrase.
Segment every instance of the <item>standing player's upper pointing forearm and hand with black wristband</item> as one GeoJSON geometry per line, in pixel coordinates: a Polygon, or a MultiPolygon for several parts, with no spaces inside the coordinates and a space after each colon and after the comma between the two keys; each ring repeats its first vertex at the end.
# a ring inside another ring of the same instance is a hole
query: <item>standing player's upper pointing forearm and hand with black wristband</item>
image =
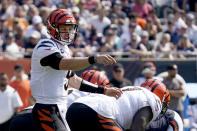
{"type": "Polygon", "coordinates": [[[110,55],[96,55],[90,57],[72,57],[62,58],[59,63],[60,70],[81,70],[87,68],[91,64],[99,63],[103,65],[112,65],[116,60],[110,55]]]}

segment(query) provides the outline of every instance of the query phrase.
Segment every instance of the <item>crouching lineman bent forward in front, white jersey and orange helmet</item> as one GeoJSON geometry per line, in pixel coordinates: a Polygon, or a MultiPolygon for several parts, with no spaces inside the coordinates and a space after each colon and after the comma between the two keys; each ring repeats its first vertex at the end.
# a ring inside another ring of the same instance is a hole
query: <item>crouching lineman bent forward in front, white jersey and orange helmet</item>
{"type": "Polygon", "coordinates": [[[77,99],[66,114],[70,129],[72,131],[144,130],[148,123],[165,112],[170,96],[165,85],[158,80],[148,80],[143,86],[147,89],[137,86],[122,88],[124,93],[118,100],[99,94],[90,94],[77,99]]]}

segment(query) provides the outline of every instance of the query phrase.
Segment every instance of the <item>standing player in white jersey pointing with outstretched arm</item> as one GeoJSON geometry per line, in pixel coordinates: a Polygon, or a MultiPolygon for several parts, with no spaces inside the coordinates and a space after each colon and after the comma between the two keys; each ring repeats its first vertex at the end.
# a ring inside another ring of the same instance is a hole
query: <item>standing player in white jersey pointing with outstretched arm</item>
{"type": "Polygon", "coordinates": [[[77,34],[77,23],[67,9],[57,9],[47,18],[51,39],[42,39],[34,48],[31,59],[31,89],[36,100],[33,119],[38,130],[66,130],[64,106],[68,85],[81,91],[106,94],[119,98],[121,90],[93,85],[69,70],[81,70],[91,64],[116,63],[110,55],[72,58],[68,44],[77,34]]]}

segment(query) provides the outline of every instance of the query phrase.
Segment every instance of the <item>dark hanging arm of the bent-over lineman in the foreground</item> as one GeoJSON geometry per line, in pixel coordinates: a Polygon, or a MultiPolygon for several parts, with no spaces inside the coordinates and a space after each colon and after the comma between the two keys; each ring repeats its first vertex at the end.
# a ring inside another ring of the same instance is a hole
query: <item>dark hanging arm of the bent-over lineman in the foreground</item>
{"type": "Polygon", "coordinates": [[[152,118],[153,113],[150,106],[141,108],[133,118],[130,131],[145,131],[152,118]]]}

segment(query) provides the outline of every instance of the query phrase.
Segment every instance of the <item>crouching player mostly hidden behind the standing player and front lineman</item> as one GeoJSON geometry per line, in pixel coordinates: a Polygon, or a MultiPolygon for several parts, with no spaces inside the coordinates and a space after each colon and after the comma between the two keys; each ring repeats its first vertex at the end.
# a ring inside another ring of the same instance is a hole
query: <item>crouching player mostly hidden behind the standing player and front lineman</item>
{"type": "MultiPolygon", "coordinates": [[[[108,77],[100,71],[95,70],[87,70],[81,74],[81,78],[87,80],[93,84],[98,86],[105,86],[107,88],[110,87],[108,77]]],[[[64,112],[67,110],[67,106],[70,106],[76,99],[87,96],[90,93],[79,91],[75,88],[68,88],[69,96],[65,99],[67,105],[64,105],[66,108],[64,112]]],[[[32,108],[28,107],[22,112],[18,113],[15,117],[13,117],[11,124],[10,124],[10,131],[35,131],[36,126],[32,121],[32,108]]],[[[63,118],[65,119],[65,118],[63,118]]],[[[69,127],[67,127],[69,130],[69,127]]]]}

